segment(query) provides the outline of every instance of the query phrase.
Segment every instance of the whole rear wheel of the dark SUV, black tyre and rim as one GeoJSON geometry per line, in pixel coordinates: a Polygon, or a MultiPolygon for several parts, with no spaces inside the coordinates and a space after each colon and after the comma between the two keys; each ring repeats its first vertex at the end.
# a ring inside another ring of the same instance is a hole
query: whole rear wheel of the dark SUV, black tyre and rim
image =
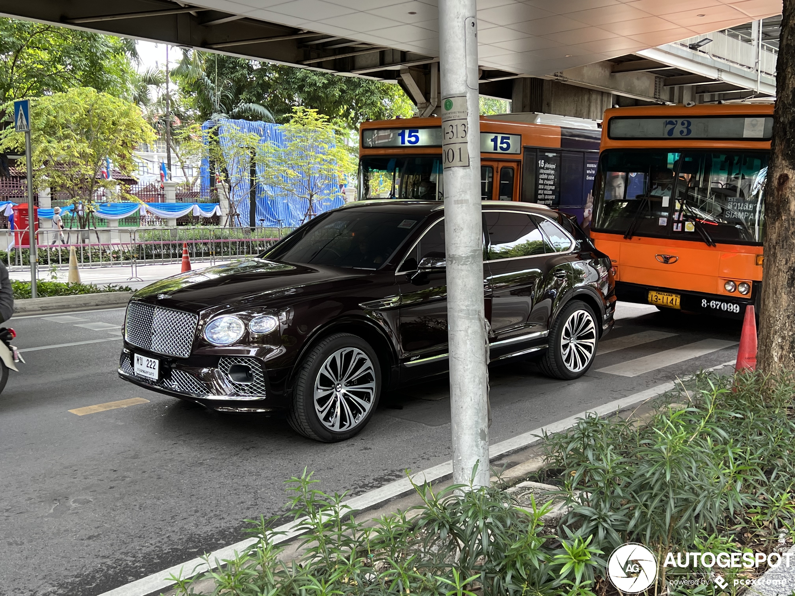
{"type": "Polygon", "coordinates": [[[588,304],[580,300],[566,304],[549,330],[549,347],[538,361],[541,372],[567,381],[587,373],[599,345],[598,320],[588,304]],[[568,341],[572,331],[577,335],[573,346],[568,341]]]}

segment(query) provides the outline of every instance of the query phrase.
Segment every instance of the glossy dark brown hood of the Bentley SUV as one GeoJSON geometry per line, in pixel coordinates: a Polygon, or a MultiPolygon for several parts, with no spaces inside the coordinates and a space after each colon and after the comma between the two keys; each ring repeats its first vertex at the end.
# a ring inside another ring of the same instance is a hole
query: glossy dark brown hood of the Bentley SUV
{"type": "Polygon", "coordinates": [[[317,296],[324,291],[334,292],[342,284],[365,275],[357,269],[250,258],[166,277],[135,292],[133,300],[157,301],[194,312],[263,302],[273,302],[275,306],[278,299],[290,296],[295,300],[308,288],[312,288],[312,296],[317,296]]]}

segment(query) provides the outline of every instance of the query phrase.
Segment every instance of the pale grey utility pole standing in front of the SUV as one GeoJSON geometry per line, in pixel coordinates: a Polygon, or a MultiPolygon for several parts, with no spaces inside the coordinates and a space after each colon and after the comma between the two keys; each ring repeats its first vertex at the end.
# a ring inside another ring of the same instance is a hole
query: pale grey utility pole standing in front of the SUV
{"type": "Polygon", "coordinates": [[[453,482],[489,484],[475,0],[439,0],[453,482]]]}

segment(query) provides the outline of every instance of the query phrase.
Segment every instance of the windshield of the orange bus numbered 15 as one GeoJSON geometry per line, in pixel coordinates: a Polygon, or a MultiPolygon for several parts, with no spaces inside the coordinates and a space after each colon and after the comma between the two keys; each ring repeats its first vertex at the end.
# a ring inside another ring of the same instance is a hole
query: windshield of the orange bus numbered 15
{"type": "Polygon", "coordinates": [[[358,199],[444,199],[440,157],[362,157],[358,199]]]}

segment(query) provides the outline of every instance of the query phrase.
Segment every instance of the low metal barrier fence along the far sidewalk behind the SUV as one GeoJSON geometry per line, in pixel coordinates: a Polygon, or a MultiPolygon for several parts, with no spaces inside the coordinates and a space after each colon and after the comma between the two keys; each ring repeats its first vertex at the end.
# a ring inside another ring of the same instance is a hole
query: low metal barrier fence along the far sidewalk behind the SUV
{"type": "MultiPolygon", "coordinates": [[[[19,230],[19,234],[26,230],[19,230]]],[[[226,261],[251,257],[273,246],[280,238],[274,228],[228,228],[199,226],[101,228],[91,230],[38,230],[37,253],[40,271],[64,269],[69,250],[75,248],[81,269],[129,267],[130,279],[138,277],[139,265],[167,265],[179,262],[183,246],[192,262],[226,261]]],[[[14,270],[29,268],[28,246],[15,247],[14,230],[0,230],[0,260],[14,270]],[[3,242],[3,238],[6,242],[3,242]],[[6,250],[2,250],[6,249],[6,250]]]]}

